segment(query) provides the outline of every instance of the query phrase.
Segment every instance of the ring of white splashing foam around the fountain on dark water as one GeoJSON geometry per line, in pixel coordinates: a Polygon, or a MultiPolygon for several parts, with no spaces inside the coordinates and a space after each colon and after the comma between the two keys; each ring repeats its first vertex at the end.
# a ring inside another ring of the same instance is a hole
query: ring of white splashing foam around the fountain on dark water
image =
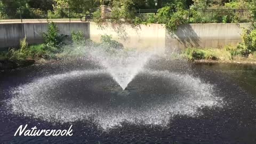
{"type": "MultiPolygon", "coordinates": [[[[62,103],[54,100],[55,86],[65,83],[68,79],[81,77],[93,78],[99,74],[106,74],[104,70],[71,71],[35,79],[35,81],[15,87],[10,91],[12,97],[7,101],[14,114],[22,114],[40,118],[49,122],[75,122],[89,120],[103,130],[115,126],[122,126],[122,122],[131,124],[152,124],[166,126],[174,115],[198,116],[198,109],[203,107],[221,107],[222,99],[213,93],[211,84],[202,83],[199,78],[190,75],[170,73],[169,71],[145,70],[141,73],[152,77],[163,77],[170,83],[182,87],[177,99],[166,100],[161,105],[141,107],[138,109],[118,107],[113,109],[100,108],[97,105],[77,105],[62,103]]],[[[74,89],[74,88],[73,88],[74,89]]],[[[72,95],[70,95],[72,97],[72,95]]],[[[86,95],[85,95],[86,97],[86,95]]],[[[170,96],[171,97],[171,96],[170,96]]]]}

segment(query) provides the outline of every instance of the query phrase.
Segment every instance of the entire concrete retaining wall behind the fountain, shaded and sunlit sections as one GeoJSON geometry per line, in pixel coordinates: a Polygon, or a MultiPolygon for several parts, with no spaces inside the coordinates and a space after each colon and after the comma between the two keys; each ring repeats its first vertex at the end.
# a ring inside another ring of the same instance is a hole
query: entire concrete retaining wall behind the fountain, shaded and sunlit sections
{"type": "MultiPolygon", "coordinates": [[[[184,47],[213,47],[235,45],[241,42],[243,27],[250,23],[208,23],[182,25],[174,33],[164,25],[103,25],[94,22],[58,22],[60,34],[70,35],[71,30],[81,30],[86,38],[99,42],[101,35],[111,35],[125,47],[153,50],[160,52],[181,50],[184,47]]],[[[42,43],[42,33],[47,30],[47,23],[5,23],[0,24],[0,48],[19,46],[20,38],[27,36],[29,44],[42,43]]]]}

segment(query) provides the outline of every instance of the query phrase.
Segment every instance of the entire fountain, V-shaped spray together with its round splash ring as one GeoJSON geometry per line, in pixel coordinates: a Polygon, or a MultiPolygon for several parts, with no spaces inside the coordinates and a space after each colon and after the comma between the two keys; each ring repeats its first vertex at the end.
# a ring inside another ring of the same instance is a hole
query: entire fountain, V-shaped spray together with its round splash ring
{"type": "Polygon", "coordinates": [[[47,122],[91,119],[103,130],[123,122],[164,127],[175,115],[193,117],[201,115],[199,108],[221,107],[211,84],[188,74],[147,67],[153,53],[90,51],[90,61],[97,61],[100,69],[36,78],[11,89],[7,105],[14,114],[47,122]]]}

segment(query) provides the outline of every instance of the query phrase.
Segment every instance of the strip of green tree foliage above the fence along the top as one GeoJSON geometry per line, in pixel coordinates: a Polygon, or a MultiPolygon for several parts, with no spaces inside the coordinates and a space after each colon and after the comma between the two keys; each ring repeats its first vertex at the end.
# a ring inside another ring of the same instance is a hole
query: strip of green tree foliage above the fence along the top
{"type": "Polygon", "coordinates": [[[0,0],[1,7],[27,7],[52,9],[53,7],[94,8],[100,5],[125,5],[134,9],[159,9],[170,6],[171,9],[248,9],[255,7],[256,0],[0,0]],[[157,6],[155,5],[157,1],[157,6]]]}

